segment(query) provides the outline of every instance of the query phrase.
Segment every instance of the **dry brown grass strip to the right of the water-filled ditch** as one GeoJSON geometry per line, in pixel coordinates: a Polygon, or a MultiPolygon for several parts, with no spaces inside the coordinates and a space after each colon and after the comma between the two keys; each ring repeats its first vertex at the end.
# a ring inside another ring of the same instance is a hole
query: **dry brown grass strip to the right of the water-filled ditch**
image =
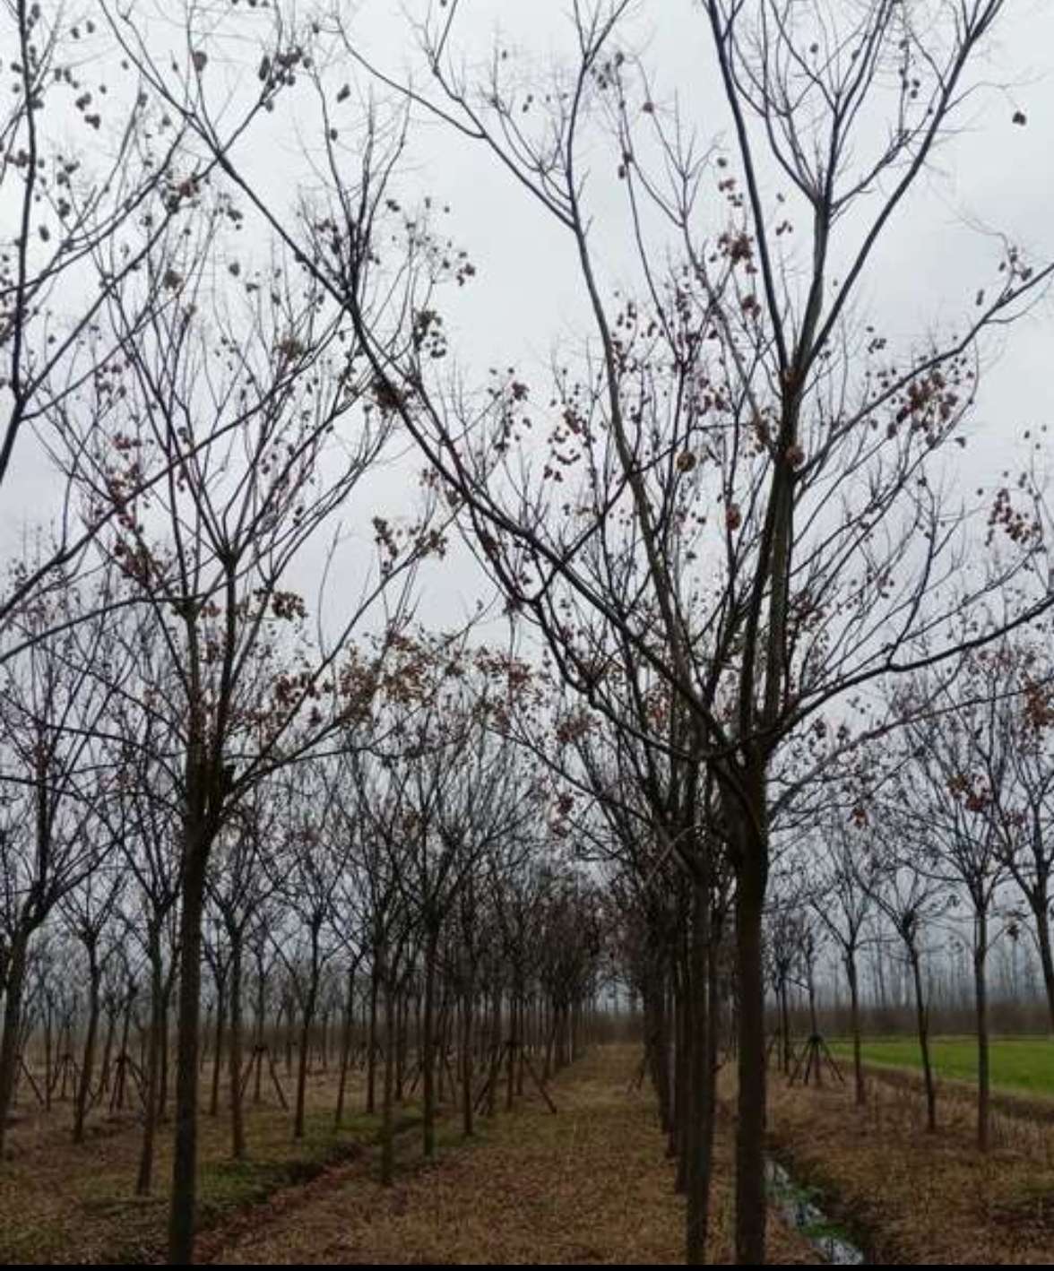
{"type": "Polygon", "coordinates": [[[938,1104],[924,1132],[913,1087],[868,1082],[858,1110],[844,1087],[788,1088],[773,1074],[769,1130],[778,1155],[824,1195],[879,1263],[1049,1265],[1054,1253],[1050,1127],[996,1120],[988,1155],[973,1107],[938,1104]]]}

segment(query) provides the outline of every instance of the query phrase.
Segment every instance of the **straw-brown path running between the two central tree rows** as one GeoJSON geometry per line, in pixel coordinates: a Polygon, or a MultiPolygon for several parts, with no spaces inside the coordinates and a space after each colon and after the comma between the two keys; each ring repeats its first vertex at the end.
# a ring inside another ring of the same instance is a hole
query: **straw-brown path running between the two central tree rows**
{"type": "MultiPolygon", "coordinates": [[[[451,1124],[439,1159],[413,1158],[383,1188],[356,1162],[276,1197],[209,1253],[229,1263],[683,1261],[684,1206],[647,1092],[628,1094],[634,1047],[598,1047],[558,1079],[552,1116],[524,1098],[465,1146],[451,1124]]],[[[729,1144],[718,1136],[715,1261],[729,1256],[729,1144]]],[[[772,1220],[770,1261],[816,1257],[772,1220]]]]}

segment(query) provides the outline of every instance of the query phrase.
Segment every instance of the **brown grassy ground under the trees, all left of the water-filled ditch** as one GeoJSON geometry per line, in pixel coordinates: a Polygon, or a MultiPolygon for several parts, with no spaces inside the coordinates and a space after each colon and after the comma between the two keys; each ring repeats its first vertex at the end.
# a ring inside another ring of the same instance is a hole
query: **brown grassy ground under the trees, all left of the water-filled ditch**
{"type": "MultiPolygon", "coordinates": [[[[420,1134],[398,1139],[393,1187],[376,1179],[376,1120],[329,1129],[332,1078],[311,1084],[309,1132],[294,1144],[276,1106],[249,1107],[249,1160],[228,1159],[226,1118],[202,1117],[202,1261],[263,1263],[666,1263],[683,1261],[684,1202],[673,1190],[654,1101],[628,1092],[636,1046],[596,1047],[552,1085],[552,1116],[534,1093],[462,1140],[451,1113],[439,1155],[420,1134]],[[309,1177],[310,1176],[310,1177],[309,1177]]],[[[351,1107],[362,1104],[361,1078],[351,1107]]],[[[404,1115],[406,1110],[403,1110],[404,1115]]],[[[131,1195],[140,1130],[97,1116],[80,1149],[69,1106],[27,1118],[0,1168],[0,1263],[149,1262],[164,1252],[169,1130],[154,1197],[131,1195]]],[[[731,1257],[731,1126],[716,1144],[712,1260],[731,1257]]],[[[770,1261],[814,1263],[812,1248],[770,1221],[770,1261]]]]}

